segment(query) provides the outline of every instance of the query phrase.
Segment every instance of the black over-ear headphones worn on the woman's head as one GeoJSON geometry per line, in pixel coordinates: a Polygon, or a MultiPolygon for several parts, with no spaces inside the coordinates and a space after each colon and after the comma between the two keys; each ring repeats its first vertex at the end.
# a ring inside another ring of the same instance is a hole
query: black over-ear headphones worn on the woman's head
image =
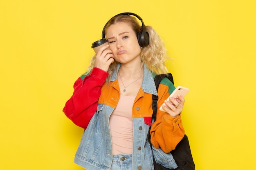
{"type": "MultiPolygon", "coordinates": [[[[142,31],[137,33],[137,39],[138,39],[138,42],[139,42],[139,46],[141,46],[141,47],[148,46],[148,44],[149,44],[149,35],[148,35],[148,32],[146,32],[146,26],[144,25],[144,22],[142,21],[142,18],[139,15],[137,15],[135,13],[130,13],[130,12],[119,13],[119,14],[113,16],[112,18],[114,18],[116,16],[119,16],[119,15],[133,15],[133,16],[137,17],[141,21],[141,23],[142,23],[142,31]]],[[[108,22],[110,20],[108,20],[108,22]]],[[[102,30],[102,34],[101,34],[101,38],[102,39],[105,39],[105,29],[106,29],[106,26],[107,26],[108,22],[105,24],[105,26],[104,26],[104,28],[102,30]]]]}

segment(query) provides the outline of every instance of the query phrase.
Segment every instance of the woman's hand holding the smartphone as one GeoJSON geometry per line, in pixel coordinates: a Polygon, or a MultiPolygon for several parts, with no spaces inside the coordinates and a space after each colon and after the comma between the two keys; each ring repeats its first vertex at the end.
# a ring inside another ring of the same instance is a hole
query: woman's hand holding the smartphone
{"type": "Polygon", "coordinates": [[[166,105],[162,106],[162,108],[172,117],[176,117],[182,112],[184,102],[185,99],[181,95],[178,95],[176,99],[170,97],[169,100],[164,101],[166,105]]]}

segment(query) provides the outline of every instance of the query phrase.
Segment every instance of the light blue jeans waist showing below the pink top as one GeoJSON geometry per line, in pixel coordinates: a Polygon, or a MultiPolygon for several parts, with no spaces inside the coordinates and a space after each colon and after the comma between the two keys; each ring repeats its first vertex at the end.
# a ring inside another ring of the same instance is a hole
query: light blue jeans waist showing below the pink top
{"type": "Polygon", "coordinates": [[[132,154],[113,155],[111,170],[132,170],[132,154]]]}

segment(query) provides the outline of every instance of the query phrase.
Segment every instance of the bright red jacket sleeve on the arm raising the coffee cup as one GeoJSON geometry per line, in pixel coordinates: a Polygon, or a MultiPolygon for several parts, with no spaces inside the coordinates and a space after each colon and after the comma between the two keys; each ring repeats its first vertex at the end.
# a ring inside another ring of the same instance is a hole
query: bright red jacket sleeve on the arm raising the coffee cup
{"type": "Polygon", "coordinates": [[[79,77],[74,83],[74,93],[66,102],[63,112],[77,126],[87,128],[97,110],[101,87],[107,77],[107,72],[94,67],[89,75],[79,77]]]}

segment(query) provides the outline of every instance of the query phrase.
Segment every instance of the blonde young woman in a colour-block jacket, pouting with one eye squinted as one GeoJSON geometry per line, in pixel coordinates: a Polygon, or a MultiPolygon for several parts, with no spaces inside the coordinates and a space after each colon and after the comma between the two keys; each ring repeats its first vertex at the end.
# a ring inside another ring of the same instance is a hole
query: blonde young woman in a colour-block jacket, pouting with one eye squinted
{"type": "Polygon", "coordinates": [[[152,154],[157,163],[177,167],[169,152],[184,136],[180,113],[185,100],[166,100],[175,89],[167,78],[156,91],[154,76],[167,73],[166,49],[156,31],[145,28],[149,44],[140,46],[137,35],[143,27],[136,18],[111,18],[104,29],[108,45],[76,80],[63,109],[85,129],[74,162],[88,170],[153,170],[152,154]],[[159,99],[157,121],[151,126],[153,94],[159,99]],[[165,112],[159,110],[163,103],[165,112]],[[153,153],[147,141],[150,126],[153,153]]]}

